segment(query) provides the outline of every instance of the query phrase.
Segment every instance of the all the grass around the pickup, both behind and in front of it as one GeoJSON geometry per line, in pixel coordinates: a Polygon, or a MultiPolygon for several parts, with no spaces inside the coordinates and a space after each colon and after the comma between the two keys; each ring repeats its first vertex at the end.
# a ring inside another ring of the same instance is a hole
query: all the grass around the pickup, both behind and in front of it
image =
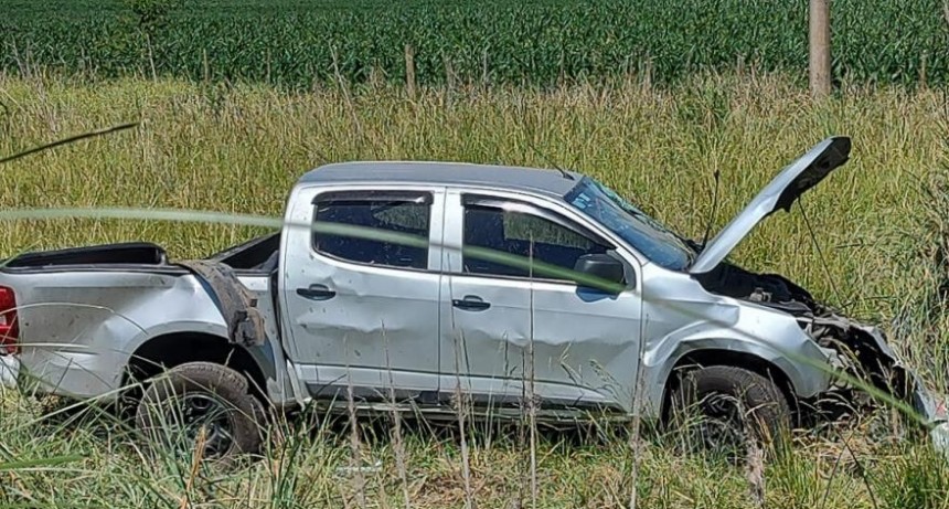
{"type": "MultiPolygon", "coordinates": [[[[710,221],[714,171],[721,171],[717,229],[785,163],[828,135],[849,135],[852,161],[803,200],[823,256],[796,206],[770,218],[735,258],[788,274],[819,298],[882,324],[927,382],[946,390],[947,320],[934,299],[945,283],[940,187],[949,126],[946,97],[936,91],[850,87],[814,104],[793,79],[760,74],[708,74],[663,89],[630,78],[416,95],[385,85],[287,93],[34,76],[0,78],[0,157],[142,121],[132,131],[3,165],[4,211],[135,206],[279,216],[294,181],[324,162],[555,161],[603,179],[692,237],[710,221]]],[[[132,220],[8,221],[0,253],[150,240],[184,257],[253,233],[132,220]]],[[[312,430],[303,417],[278,426],[267,459],[224,475],[186,458],[141,456],[110,417],[41,420],[49,411],[25,396],[0,396],[0,506],[622,507],[636,465],[638,507],[756,507],[745,467],[676,453],[673,438],[654,432],[644,435],[638,457],[620,433],[591,441],[543,434],[532,474],[531,448],[516,435],[466,427],[462,455],[457,433],[409,430],[393,439],[383,423],[353,446],[348,432],[312,430]],[[381,467],[338,469],[354,457],[381,467]],[[44,458],[64,463],[29,463],[44,458]]],[[[766,507],[947,507],[946,464],[927,443],[906,442],[886,423],[885,415],[867,416],[798,437],[793,455],[753,476],[764,479],[766,507]]]]}

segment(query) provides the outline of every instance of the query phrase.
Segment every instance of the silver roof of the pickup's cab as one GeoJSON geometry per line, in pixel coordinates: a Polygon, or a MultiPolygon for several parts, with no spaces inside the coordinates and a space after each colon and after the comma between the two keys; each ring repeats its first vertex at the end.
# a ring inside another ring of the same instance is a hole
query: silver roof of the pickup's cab
{"type": "Polygon", "coordinates": [[[563,197],[583,177],[568,171],[514,166],[441,161],[354,161],[324,165],[308,171],[300,183],[409,182],[436,185],[490,185],[563,197]]]}

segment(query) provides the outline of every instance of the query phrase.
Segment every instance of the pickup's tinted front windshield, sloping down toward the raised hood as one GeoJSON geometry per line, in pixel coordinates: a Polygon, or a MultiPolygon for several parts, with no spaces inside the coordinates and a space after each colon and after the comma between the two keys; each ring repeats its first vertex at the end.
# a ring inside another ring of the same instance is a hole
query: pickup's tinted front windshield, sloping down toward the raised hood
{"type": "Polygon", "coordinates": [[[564,199],[662,267],[684,271],[695,256],[679,235],[589,177],[580,179],[564,199]]]}

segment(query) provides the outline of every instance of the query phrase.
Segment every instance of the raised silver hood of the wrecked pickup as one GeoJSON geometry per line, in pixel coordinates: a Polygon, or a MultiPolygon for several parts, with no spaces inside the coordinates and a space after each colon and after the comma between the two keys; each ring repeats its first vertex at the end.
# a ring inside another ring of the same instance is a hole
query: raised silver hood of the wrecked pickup
{"type": "Polygon", "coordinates": [[[715,268],[763,219],[779,209],[790,211],[795,200],[846,162],[849,157],[850,138],[834,136],[785,167],[742,213],[705,245],[689,272],[704,274],[715,268]]]}

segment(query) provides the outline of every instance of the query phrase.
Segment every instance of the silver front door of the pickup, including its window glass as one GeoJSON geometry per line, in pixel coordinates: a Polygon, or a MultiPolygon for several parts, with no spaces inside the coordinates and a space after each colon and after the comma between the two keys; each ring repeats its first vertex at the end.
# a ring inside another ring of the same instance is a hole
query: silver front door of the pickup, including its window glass
{"type": "Polygon", "coordinates": [[[442,391],[460,384],[492,405],[533,391],[548,409],[631,407],[642,305],[638,267],[627,263],[627,290],[619,295],[572,280],[584,254],[622,258],[582,221],[533,198],[449,191],[442,391]],[[505,262],[504,255],[514,257],[505,262]],[[516,259],[527,266],[510,265],[516,259]],[[535,271],[541,263],[548,269],[535,271]]]}

